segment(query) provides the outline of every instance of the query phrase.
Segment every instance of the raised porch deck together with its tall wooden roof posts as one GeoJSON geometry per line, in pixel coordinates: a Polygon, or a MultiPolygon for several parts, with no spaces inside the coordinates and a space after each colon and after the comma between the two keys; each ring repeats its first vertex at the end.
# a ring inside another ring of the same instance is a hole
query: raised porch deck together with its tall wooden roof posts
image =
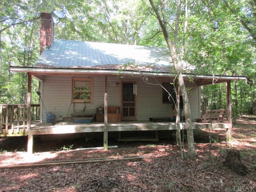
{"type": "MultiPolygon", "coordinates": [[[[26,111],[31,111],[31,79],[32,74],[28,73],[28,105],[25,107],[26,111]]],[[[221,128],[226,129],[227,140],[231,140],[232,130],[232,110],[231,110],[231,92],[230,92],[230,80],[223,79],[221,82],[226,82],[226,94],[227,94],[227,118],[225,123],[207,123],[207,122],[193,122],[193,129],[206,129],[206,128],[221,128]]],[[[210,84],[210,80],[198,78],[198,85],[210,84]]],[[[136,120],[136,121],[121,121],[121,122],[108,122],[108,77],[104,76],[104,122],[90,122],[90,123],[74,123],[69,124],[52,124],[42,122],[42,120],[34,122],[32,114],[27,113],[26,120],[22,120],[22,123],[11,123],[9,126],[0,126],[0,136],[28,136],[28,152],[33,153],[33,140],[36,135],[47,134],[72,134],[72,133],[88,133],[88,132],[103,132],[104,149],[108,149],[108,132],[125,132],[125,131],[154,131],[156,132],[154,140],[158,139],[158,131],[160,130],[178,130],[175,122],[161,121],[154,122],[148,120],[136,120]],[[20,125],[22,124],[22,129],[20,125]]],[[[25,109],[24,108],[24,109],[25,109]]],[[[42,110],[42,108],[41,108],[42,110]]],[[[12,110],[11,110],[12,111],[12,110]]],[[[15,110],[14,110],[15,111],[15,110]]],[[[7,114],[7,113],[6,113],[7,114]]],[[[14,114],[12,116],[15,116],[14,114]]],[[[6,117],[3,117],[6,118],[6,117]]],[[[181,123],[180,129],[186,129],[186,124],[181,123]]],[[[118,137],[119,138],[119,137],[118,137]]]]}

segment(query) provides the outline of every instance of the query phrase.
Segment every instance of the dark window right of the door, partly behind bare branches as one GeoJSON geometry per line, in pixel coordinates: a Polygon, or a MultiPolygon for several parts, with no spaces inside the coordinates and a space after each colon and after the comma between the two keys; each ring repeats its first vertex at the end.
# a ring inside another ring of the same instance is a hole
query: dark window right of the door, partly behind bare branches
{"type": "Polygon", "coordinates": [[[163,82],[162,86],[162,101],[163,103],[174,103],[176,101],[176,94],[174,89],[174,83],[163,82]]]}

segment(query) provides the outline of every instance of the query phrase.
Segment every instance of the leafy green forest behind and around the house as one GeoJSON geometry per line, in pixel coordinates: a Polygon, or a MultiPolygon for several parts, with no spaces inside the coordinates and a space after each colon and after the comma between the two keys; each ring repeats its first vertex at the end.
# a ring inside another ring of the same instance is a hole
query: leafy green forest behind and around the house
{"type": "MultiPolygon", "coordinates": [[[[174,42],[177,3],[163,4],[168,18],[166,28],[174,42]]],[[[140,0],[2,0],[0,102],[26,101],[27,77],[10,72],[9,66],[32,66],[38,58],[41,12],[52,12],[54,8],[66,13],[61,19],[54,15],[55,37],[59,39],[166,46],[162,28],[150,7],[148,2],[140,0]],[[20,89],[23,85],[25,89],[20,89]]],[[[186,22],[183,1],[181,7],[176,54],[182,54],[185,40],[183,60],[196,66],[194,73],[248,76],[248,84],[233,82],[232,102],[236,114],[249,113],[250,104],[256,100],[255,1],[188,1],[186,36],[183,36],[186,22]]],[[[223,108],[225,89],[221,84],[218,86],[213,103],[223,108]]],[[[211,98],[207,92],[204,96],[211,98]]]]}

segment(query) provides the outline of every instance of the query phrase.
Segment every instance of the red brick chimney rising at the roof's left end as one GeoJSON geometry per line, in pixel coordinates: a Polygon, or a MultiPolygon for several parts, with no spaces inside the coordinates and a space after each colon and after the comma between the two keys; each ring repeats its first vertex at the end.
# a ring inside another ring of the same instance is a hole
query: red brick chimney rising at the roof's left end
{"type": "Polygon", "coordinates": [[[45,49],[52,46],[54,42],[54,29],[52,14],[48,12],[41,13],[41,28],[40,28],[40,54],[45,49]]]}

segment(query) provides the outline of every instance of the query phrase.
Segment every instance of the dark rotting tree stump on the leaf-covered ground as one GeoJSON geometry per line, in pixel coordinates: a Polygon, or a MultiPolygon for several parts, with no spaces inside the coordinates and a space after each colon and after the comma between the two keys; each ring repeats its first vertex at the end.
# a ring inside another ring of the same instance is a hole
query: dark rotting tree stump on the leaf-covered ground
{"type": "Polygon", "coordinates": [[[239,150],[227,150],[224,164],[241,176],[248,174],[248,168],[242,163],[239,150]]]}

